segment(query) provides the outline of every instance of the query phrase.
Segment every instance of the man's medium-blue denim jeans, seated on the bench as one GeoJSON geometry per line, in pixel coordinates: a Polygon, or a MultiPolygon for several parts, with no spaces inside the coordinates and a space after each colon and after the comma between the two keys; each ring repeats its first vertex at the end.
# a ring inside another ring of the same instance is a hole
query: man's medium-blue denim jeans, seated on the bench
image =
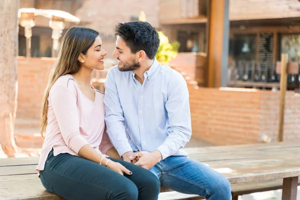
{"type": "Polygon", "coordinates": [[[185,156],[169,156],[149,170],[172,190],[209,200],[231,199],[230,183],[222,174],[185,156]]]}

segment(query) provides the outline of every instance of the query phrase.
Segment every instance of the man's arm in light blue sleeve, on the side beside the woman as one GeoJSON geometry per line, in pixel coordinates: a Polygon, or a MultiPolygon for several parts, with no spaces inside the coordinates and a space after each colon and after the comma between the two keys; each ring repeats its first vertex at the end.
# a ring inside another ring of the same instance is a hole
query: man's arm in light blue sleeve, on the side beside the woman
{"type": "Polygon", "coordinates": [[[120,156],[123,155],[122,157],[125,160],[125,157],[129,157],[133,152],[126,137],[123,109],[118,97],[115,77],[112,69],[108,71],[105,80],[104,105],[104,119],[106,123],[107,134],[118,154],[120,156]]]}

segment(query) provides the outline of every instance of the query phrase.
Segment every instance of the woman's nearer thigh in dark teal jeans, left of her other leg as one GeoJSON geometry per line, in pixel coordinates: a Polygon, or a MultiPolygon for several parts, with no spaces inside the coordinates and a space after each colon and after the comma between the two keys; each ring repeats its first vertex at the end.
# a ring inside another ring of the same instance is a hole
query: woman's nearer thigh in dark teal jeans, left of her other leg
{"type": "Polygon", "coordinates": [[[66,199],[136,200],[138,196],[137,187],[125,176],[68,153],[49,154],[40,177],[47,190],[66,199]]]}

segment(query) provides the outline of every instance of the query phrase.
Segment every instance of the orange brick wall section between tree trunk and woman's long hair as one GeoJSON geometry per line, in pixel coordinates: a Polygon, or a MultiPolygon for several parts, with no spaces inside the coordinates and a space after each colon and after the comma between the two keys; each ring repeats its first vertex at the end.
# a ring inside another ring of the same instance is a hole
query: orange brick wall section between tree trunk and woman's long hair
{"type": "Polygon", "coordinates": [[[18,57],[17,118],[39,118],[42,95],[54,63],[55,58],[18,57]]]}

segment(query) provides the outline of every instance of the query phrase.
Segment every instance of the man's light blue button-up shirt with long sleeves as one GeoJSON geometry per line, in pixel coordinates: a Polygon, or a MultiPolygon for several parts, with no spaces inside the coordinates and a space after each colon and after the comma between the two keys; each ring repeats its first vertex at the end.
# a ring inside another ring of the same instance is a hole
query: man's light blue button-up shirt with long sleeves
{"type": "Polygon", "coordinates": [[[128,151],[187,155],[180,150],[190,139],[191,121],[186,81],[169,66],[153,64],[142,84],[133,71],[109,69],[105,81],[105,122],[121,156],[128,151]]]}

